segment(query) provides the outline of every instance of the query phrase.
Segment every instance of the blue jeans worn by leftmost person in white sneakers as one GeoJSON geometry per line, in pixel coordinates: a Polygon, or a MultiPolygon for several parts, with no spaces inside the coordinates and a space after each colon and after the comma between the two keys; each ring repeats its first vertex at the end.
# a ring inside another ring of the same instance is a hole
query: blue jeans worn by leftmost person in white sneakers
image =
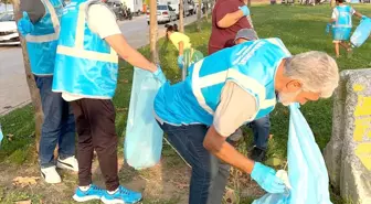
{"type": "Polygon", "coordinates": [[[67,101],[60,93],[52,92],[53,76],[34,76],[40,90],[44,122],[41,130],[39,160],[41,168],[55,165],[54,149],[59,157],[75,154],[75,119],[67,101]]]}

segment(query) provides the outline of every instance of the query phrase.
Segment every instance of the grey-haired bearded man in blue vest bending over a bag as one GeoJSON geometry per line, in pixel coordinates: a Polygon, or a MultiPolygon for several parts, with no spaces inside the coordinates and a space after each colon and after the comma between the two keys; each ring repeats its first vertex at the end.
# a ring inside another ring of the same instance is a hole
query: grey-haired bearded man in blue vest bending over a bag
{"type": "Polygon", "coordinates": [[[214,158],[251,174],[267,192],[284,192],[275,170],[244,157],[226,138],[268,115],[277,100],[330,97],[338,80],[338,66],[326,53],[290,55],[279,39],[263,39],[216,52],[193,64],[184,82],[165,84],[155,98],[155,117],[192,167],[189,203],[208,203],[219,171],[214,158]]]}

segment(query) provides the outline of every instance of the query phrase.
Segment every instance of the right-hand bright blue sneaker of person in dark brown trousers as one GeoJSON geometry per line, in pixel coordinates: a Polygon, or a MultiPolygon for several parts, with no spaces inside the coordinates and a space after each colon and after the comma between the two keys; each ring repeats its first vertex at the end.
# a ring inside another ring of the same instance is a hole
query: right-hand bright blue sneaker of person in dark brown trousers
{"type": "Polygon", "coordinates": [[[141,200],[141,193],[137,193],[119,186],[116,193],[109,194],[108,191],[102,196],[102,202],[105,204],[127,204],[137,203],[141,200]]]}

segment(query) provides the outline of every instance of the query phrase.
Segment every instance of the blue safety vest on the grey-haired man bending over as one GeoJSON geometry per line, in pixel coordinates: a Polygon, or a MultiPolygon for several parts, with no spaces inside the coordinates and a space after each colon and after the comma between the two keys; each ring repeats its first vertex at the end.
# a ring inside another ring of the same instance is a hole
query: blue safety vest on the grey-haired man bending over
{"type": "Polygon", "coordinates": [[[216,52],[190,66],[184,82],[165,84],[156,96],[155,112],[171,125],[210,126],[223,87],[232,80],[256,100],[256,115],[248,121],[262,118],[276,105],[275,74],[286,57],[290,53],[279,39],[246,42],[216,52]]]}

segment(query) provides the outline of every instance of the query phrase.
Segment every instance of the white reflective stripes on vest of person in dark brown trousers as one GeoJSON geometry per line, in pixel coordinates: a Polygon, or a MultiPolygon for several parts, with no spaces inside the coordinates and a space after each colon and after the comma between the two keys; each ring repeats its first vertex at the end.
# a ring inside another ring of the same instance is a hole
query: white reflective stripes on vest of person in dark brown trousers
{"type": "Polygon", "coordinates": [[[94,52],[94,51],[86,51],[84,49],[84,28],[86,23],[86,10],[85,10],[86,6],[87,6],[87,2],[81,3],[78,6],[75,46],[70,47],[70,46],[59,45],[56,49],[56,53],[67,55],[67,56],[93,60],[93,61],[118,63],[117,53],[113,47],[110,47],[109,54],[94,52]]]}

